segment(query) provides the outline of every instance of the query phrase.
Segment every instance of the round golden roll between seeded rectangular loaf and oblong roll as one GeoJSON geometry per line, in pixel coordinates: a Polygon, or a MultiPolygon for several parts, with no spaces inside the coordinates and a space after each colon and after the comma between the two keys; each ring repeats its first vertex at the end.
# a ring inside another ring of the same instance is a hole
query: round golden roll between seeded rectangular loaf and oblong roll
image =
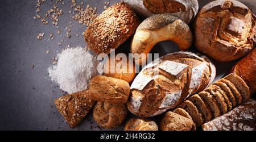
{"type": "Polygon", "coordinates": [[[117,59],[117,56],[109,57],[104,66],[104,75],[131,83],[136,76],[135,64],[133,60],[129,60],[129,57],[127,56],[126,60],[117,59]]]}

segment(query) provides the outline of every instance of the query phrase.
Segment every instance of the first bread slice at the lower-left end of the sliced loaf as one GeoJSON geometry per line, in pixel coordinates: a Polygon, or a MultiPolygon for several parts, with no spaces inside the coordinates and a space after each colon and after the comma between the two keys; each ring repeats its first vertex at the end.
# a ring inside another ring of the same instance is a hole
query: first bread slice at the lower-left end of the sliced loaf
{"type": "Polygon", "coordinates": [[[178,108],[183,108],[185,111],[188,112],[188,114],[192,117],[193,122],[196,124],[196,127],[204,123],[204,119],[200,111],[195,105],[193,105],[191,101],[184,101],[183,103],[181,103],[180,106],[178,106],[178,108]]]}

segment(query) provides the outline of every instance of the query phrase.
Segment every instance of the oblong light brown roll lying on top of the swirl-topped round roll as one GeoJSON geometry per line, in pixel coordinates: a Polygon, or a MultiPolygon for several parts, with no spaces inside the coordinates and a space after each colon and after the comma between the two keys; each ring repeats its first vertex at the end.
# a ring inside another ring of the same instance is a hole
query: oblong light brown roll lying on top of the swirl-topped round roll
{"type": "Polygon", "coordinates": [[[130,85],[117,78],[94,76],[90,80],[89,95],[96,101],[125,104],[130,95],[130,85]]]}

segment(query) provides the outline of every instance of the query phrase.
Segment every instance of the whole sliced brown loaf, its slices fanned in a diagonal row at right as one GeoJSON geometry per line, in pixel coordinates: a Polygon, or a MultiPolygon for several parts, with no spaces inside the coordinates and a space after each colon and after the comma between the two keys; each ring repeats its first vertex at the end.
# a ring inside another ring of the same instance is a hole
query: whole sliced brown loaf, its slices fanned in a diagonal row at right
{"type": "MultiPolygon", "coordinates": [[[[235,107],[232,105],[232,102],[228,97],[231,91],[226,91],[226,89],[231,90],[230,87],[234,87],[234,89],[239,90],[239,93],[242,95],[243,102],[247,101],[248,97],[250,97],[249,87],[241,77],[232,73],[214,82],[198,95],[192,95],[186,101],[181,103],[181,105],[177,106],[177,108],[183,108],[183,110],[188,112],[189,116],[191,116],[193,122],[196,124],[196,127],[198,127],[212,118],[225,114],[235,107]],[[233,85],[225,85],[225,80],[232,82],[233,85]]],[[[235,104],[239,105],[240,102],[237,101],[235,104]]]]}

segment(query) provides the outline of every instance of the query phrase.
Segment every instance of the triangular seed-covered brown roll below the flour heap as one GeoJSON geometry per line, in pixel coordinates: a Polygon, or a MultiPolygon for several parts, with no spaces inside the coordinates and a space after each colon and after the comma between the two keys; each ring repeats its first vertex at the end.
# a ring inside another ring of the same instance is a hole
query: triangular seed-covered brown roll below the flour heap
{"type": "Polygon", "coordinates": [[[69,126],[74,128],[88,114],[96,101],[90,98],[88,90],[84,90],[64,95],[55,99],[54,102],[60,114],[67,120],[69,126]]]}

